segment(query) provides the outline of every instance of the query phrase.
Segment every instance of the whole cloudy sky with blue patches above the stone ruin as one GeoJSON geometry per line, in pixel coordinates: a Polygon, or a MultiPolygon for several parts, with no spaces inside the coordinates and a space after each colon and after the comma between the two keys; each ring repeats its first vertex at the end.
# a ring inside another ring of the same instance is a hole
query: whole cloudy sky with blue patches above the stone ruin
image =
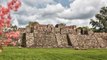
{"type": "MultiPolygon", "coordinates": [[[[0,0],[6,6],[9,0],[0,0]]],[[[21,0],[22,5],[17,12],[12,12],[12,24],[25,27],[29,22],[40,24],[59,24],[90,26],[101,7],[107,0],[21,0]]]]}

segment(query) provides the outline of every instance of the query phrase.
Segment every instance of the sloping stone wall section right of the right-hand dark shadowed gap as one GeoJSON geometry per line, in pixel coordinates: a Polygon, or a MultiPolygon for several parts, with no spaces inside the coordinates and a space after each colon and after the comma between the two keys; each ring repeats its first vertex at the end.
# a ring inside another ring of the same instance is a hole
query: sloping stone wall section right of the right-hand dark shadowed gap
{"type": "Polygon", "coordinates": [[[94,33],[92,35],[69,34],[72,47],[76,49],[107,48],[107,33],[94,33]]]}

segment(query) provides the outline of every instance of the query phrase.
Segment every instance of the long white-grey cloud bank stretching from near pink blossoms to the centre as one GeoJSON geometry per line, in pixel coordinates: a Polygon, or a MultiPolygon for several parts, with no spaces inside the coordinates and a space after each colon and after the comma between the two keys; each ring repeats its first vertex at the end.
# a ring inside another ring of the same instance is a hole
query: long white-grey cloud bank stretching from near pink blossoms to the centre
{"type": "Polygon", "coordinates": [[[50,23],[51,20],[57,17],[57,13],[62,11],[64,11],[64,7],[61,4],[47,4],[46,8],[37,9],[36,7],[33,8],[32,6],[22,3],[20,10],[15,12],[13,16],[17,18],[19,25],[26,25],[29,21],[44,22],[50,20],[45,22],[50,23]]]}

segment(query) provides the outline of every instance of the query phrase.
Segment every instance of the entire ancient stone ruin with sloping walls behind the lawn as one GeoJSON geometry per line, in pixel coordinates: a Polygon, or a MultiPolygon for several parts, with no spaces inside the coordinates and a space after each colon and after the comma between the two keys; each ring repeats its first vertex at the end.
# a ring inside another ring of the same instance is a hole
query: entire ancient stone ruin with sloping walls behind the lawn
{"type": "Polygon", "coordinates": [[[27,26],[21,31],[21,46],[30,48],[107,48],[107,33],[94,33],[64,24],[27,26]]]}

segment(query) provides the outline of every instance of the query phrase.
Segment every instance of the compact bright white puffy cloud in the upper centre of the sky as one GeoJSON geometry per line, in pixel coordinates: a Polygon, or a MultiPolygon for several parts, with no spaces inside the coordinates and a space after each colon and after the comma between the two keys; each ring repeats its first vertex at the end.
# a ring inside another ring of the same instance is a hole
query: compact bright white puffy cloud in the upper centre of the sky
{"type": "Polygon", "coordinates": [[[57,13],[60,13],[64,11],[64,7],[61,4],[56,4],[56,5],[47,5],[46,8],[40,9],[41,10],[41,15],[44,18],[52,18],[52,17],[57,17],[57,13]]]}

